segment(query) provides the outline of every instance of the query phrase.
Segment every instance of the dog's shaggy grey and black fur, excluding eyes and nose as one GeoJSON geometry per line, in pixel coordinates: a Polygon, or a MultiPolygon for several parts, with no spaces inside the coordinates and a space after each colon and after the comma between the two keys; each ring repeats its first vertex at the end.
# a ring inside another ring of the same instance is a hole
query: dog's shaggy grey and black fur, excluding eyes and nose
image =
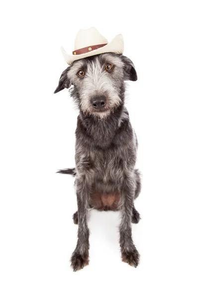
{"type": "Polygon", "coordinates": [[[141,183],[135,169],[137,138],[124,107],[124,81],[137,80],[132,61],[113,53],[104,53],[75,61],[61,75],[55,93],[64,88],[77,103],[80,114],[76,129],[76,168],[60,170],[76,176],[78,211],[73,219],[78,242],[71,257],[74,271],[89,263],[88,210],[120,210],[119,226],[122,261],[137,266],[139,253],[131,236],[131,222],[140,216],[134,208],[141,183]],[[111,64],[111,71],[105,70],[111,64]],[[78,75],[83,70],[84,77],[78,75]],[[104,96],[106,105],[96,110],[93,97],[104,96]]]}

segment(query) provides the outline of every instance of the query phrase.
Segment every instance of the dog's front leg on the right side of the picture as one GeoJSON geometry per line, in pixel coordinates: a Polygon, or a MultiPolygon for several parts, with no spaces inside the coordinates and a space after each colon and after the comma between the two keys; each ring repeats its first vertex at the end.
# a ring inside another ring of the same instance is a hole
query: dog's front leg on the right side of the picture
{"type": "Polygon", "coordinates": [[[139,253],[132,240],[131,220],[133,200],[135,196],[135,184],[132,177],[126,177],[121,188],[121,223],[119,226],[120,248],[122,261],[131,266],[137,267],[139,253]]]}

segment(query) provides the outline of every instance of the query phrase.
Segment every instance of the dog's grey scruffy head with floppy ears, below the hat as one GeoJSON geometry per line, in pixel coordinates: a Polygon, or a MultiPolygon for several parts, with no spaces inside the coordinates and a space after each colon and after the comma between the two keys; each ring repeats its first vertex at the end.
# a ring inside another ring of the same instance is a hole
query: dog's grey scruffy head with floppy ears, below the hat
{"type": "Polygon", "coordinates": [[[73,85],[71,95],[82,112],[103,118],[120,105],[125,80],[137,80],[132,61],[104,53],[76,60],[62,73],[55,93],[73,85]]]}

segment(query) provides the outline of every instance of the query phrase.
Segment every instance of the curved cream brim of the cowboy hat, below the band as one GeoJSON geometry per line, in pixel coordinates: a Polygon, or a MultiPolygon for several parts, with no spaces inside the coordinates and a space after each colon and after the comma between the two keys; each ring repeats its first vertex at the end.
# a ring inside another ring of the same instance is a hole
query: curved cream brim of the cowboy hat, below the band
{"type": "Polygon", "coordinates": [[[68,64],[72,64],[75,60],[102,54],[102,53],[112,52],[115,54],[122,54],[124,51],[124,41],[123,41],[123,36],[121,34],[118,34],[107,45],[88,53],[84,53],[80,55],[71,55],[66,53],[63,47],[61,47],[61,51],[66,62],[68,64]]]}

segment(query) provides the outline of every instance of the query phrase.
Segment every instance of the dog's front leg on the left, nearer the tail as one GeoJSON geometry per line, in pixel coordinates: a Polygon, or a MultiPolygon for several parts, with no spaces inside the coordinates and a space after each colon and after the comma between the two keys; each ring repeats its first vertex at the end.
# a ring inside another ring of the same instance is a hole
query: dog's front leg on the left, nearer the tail
{"type": "Polygon", "coordinates": [[[74,271],[83,269],[89,264],[89,228],[87,224],[88,206],[91,194],[91,185],[86,179],[78,178],[77,202],[78,202],[78,242],[71,257],[71,267],[74,271]]]}

